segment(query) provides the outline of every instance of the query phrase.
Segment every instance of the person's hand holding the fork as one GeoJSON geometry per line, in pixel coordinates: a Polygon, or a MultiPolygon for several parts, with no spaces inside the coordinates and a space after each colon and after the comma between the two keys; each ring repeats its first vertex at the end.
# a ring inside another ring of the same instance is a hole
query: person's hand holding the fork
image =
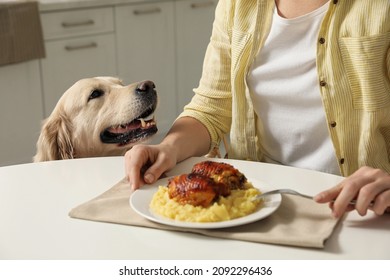
{"type": "Polygon", "coordinates": [[[317,194],[314,200],[329,203],[335,218],[354,209],[361,216],[366,215],[368,209],[382,215],[390,207],[390,174],[380,169],[361,167],[340,184],[317,194]],[[350,205],[349,202],[354,199],[356,204],[350,205]]]}

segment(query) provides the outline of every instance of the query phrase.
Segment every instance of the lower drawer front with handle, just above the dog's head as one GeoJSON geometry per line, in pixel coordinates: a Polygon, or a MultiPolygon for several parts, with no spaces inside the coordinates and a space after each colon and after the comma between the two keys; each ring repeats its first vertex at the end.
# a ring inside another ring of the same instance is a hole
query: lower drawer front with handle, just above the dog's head
{"type": "Polygon", "coordinates": [[[45,116],[76,81],[117,75],[114,34],[48,41],[45,47],[46,58],[41,60],[45,116]]]}

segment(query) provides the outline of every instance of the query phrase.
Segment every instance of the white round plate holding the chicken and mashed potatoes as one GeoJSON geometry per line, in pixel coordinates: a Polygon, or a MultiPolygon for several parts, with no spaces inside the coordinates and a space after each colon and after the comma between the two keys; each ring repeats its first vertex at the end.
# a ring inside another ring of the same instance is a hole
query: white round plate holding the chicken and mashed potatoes
{"type": "MultiPolygon", "coordinates": [[[[263,183],[248,179],[249,182],[257,187],[261,192],[270,190],[263,183]]],[[[130,205],[133,210],[144,218],[157,222],[164,225],[183,227],[183,228],[199,228],[199,229],[211,229],[211,228],[226,228],[234,227],[244,224],[249,224],[261,219],[264,219],[275,212],[282,202],[282,196],[280,194],[269,195],[263,203],[263,206],[256,212],[247,216],[222,222],[207,222],[207,223],[196,223],[196,222],[182,222],[173,219],[165,218],[154,214],[149,208],[149,204],[152,200],[154,193],[158,190],[158,186],[167,185],[168,178],[161,179],[152,185],[145,185],[137,191],[133,192],[130,196],[130,205]]]]}

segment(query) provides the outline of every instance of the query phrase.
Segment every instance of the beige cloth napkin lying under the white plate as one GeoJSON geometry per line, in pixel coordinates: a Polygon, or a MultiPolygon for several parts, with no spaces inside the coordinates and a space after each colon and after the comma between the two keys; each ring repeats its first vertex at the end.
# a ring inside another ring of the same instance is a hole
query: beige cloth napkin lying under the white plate
{"type": "Polygon", "coordinates": [[[98,197],[72,209],[73,218],[199,233],[218,238],[260,243],[323,248],[338,220],[326,205],[308,199],[283,196],[281,206],[271,216],[243,226],[223,229],[178,228],[149,221],[129,205],[131,190],[123,179],[98,197]]]}

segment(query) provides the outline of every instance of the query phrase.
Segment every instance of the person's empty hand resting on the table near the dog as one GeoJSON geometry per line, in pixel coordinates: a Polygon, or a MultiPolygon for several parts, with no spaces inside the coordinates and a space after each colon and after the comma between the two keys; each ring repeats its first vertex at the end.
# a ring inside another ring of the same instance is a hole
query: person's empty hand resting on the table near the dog
{"type": "Polygon", "coordinates": [[[133,190],[152,184],[176,165],[175,150],[168,145],[136,145],[125,154],[125,172],[133,190]]]}

